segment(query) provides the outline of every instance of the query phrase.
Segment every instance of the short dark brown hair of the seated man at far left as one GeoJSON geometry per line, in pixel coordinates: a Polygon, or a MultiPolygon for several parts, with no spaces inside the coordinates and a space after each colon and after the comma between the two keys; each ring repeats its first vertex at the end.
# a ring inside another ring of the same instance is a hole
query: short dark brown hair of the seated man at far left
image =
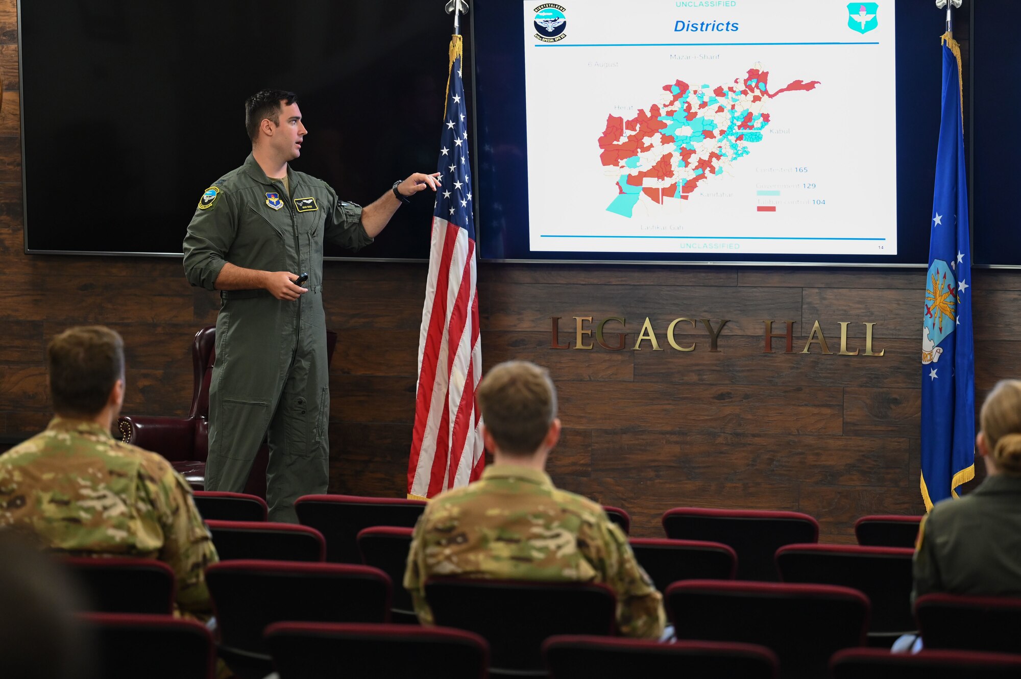
{"type": "Polygon", "coordinates": [[[125,374],[125,343],[102,325],[72,327],[46,348],[50,396],[58,415],[92,417],[125,374]]]}

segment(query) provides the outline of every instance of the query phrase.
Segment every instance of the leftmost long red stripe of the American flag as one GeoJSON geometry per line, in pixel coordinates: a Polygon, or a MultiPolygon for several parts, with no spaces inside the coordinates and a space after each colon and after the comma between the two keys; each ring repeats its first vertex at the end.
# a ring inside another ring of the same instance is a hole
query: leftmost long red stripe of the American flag
{"type": "MultiPolygon", "coordinates": [[[[433,228],[437,228],[435,217],[433,228]]],[[[426,290],[435,290],[432,311],[429,316],[429,332],[426,336],[426,347],[422,353],[422,365],[419,366],[419,391],[416,395],[415,429],[411,435],[411,456],[407,464],[407,490],[411,491],[415,475],[419,468],[419,458],[422,455],[423,436],[426,423],[429,420],[429,407],[433,400],[433,389],[436,384],[436,368],[439,361],[440,346],[443,342],[443,324],[446,322],[446,291],[450,271],[450,259],[453,257],[453,247],[456,243],[456,232],[459,227],[446,224],[446,238],[443,240],[443,253],[440,266],[437,269],[437,280],[434,286],[428,283],[426,290]]],[[[428,300],[426,301],[428,306],[428,300]]]]}

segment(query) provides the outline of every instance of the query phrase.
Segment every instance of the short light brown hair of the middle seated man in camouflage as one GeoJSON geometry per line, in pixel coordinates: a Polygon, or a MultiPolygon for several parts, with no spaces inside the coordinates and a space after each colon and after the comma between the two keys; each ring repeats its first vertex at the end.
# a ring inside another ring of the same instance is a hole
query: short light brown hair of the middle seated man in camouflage
{"type": "Polygon", "coordinates": [[[556,388],[549,371],[528,361],[493,367],[476,398],[486,430],[508,455],[535,453],[556,418],[556,388]]]}

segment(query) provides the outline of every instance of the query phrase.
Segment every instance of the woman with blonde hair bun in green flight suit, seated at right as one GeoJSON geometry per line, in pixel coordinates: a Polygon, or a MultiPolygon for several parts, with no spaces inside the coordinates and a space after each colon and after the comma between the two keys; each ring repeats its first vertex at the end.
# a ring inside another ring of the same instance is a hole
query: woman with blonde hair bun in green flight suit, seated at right
{"type": "Polygon", "coordinates": [[[1021,595],[1021,380],[986,397],[975,437],[986,479],[922,520],[912,599],[935,591],[1021,595]]]}

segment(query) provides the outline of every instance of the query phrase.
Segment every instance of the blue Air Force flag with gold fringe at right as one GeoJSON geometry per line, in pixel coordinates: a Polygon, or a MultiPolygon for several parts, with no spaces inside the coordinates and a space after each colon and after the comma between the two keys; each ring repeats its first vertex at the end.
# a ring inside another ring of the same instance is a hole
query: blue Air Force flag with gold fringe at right
{"type": "Polygon", "coordinates": [[[943,89],[922,324],[922,499],[926,511],[975,476],[975,350],[961,102],[961,52],[943,36],[943,89]]]}

